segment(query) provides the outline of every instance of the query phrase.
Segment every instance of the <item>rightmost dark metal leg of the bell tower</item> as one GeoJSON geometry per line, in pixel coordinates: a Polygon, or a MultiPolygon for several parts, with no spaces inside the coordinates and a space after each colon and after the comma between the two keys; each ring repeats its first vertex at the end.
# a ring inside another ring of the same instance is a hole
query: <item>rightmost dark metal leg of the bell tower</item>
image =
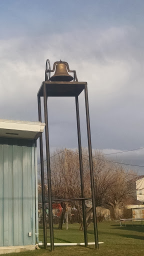
{"type": "Polygon", "coordinates": [[[84,87],[84,95],[85,95],[85,111],[86,111],[86,124],[87,124],[87,139],[88,139],[88,153],[89,153],[90,182],[91,182],[91,197],[92,197],[94,241],[95,241],[95,248],[98,248],[98,232],[97,232],[97,222],[96,222],[96,204],[95,204],[94,177],[93,177],[93,165],[92,165],[92,149],[91,149],[91,136],[90,136],[90,121],[89,121],[89,107],[88,107],[87,84],[84,87]]]}

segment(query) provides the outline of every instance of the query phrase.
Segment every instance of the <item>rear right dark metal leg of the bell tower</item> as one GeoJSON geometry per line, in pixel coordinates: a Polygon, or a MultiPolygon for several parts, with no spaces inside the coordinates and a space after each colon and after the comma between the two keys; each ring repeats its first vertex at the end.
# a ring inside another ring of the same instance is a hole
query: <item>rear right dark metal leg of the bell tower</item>
{"type": "MultiPolygon", "coordinates": [[[[76,121],[77,121],[77,138],[78,138],[78,152],[79,152],[81,197],[84,198],[84,181],[83,181],[83,166],[82,166],[78,96],[75,97],[75,106],[76,106],[76,121]]],[[[82,200],[82,216],[83,216],[84,245],[86,247],[87,246],[87,227],[86,227],[85,200],[82,200]]]]}

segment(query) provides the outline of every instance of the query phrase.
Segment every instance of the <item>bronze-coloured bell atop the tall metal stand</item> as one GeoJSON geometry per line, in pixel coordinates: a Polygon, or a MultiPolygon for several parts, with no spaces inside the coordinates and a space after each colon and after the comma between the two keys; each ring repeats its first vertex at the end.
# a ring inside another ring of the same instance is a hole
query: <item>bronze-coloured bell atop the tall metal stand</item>
{"type": "Polygon", "coordinates": [[[58,63],[55,68],[55,73],[50,77],[50,81],[71,81],[73,77],[68,74],[66,65],[58,63]]]}

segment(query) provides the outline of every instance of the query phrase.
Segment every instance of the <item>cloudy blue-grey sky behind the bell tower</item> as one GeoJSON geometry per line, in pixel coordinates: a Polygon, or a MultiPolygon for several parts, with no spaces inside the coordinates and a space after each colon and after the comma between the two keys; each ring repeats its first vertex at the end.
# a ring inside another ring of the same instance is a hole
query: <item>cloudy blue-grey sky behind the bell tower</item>
{"type": "MultiPolygon", "coordinates": [[[[143,0],[1,0],[0,118],[37,120],[45,61],[61,59],[88,83],[92,148],[144,146],[143,11],[143,0]]],[[[83,93],[79,107],[87,146],[83,93]]],[[[48,121],[51,148],[77,147],[74,98],[48,98],[48,121]]],[[[109,157],[144,165],[143,153],[109,157]]]]}

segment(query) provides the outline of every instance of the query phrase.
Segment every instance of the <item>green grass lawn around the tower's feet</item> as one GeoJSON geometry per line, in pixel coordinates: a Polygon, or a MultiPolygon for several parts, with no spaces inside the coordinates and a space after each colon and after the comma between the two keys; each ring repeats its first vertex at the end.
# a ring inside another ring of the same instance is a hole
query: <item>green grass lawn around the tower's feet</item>
{"type": "MultiPolygon", "coordinates": [[[[79,224],[69,224],[66,231],[65,225],[63,230],[58,230],[54,226],[54,242],[83,242],[83,232],[78,230],[79,224]]],[[[54,251],[50,252],[49,247],[44,250],[27,251],[16,253],[17,256],[141,256],[144,251],[144,227],[140,222],[135,222],[133,227],[131,223],[126,227],[120,227],[119,222],[105,221],[98,223],[98,240],[103,241],[99,244],[99,249],[95,250],[93,245],[85,248],[84,246],[55,246],[54,251]]],[[[47,230],[49,233],[49,229],[47,230]]],[[[92,224],[87,230],[88,242],[94,241],[92,224]]],[[[39,240],[43,240],[42,229],[39,229],[39,240]]],[[[49,236],[47,235],[49,242],[49,236]]],[[[5,256],[9,254],[5,254],[5,256]]],[[[15,256],[11,253],[10,256],[15,256]]]]}

